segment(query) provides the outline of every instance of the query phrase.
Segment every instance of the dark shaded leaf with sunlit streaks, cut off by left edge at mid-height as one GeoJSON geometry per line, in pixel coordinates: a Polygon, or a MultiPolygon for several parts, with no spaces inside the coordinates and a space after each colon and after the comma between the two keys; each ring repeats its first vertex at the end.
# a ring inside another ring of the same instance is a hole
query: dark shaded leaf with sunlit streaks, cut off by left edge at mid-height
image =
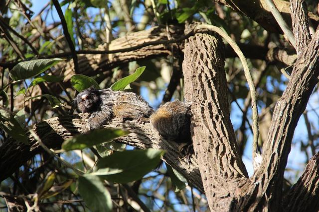
{"type": "Polygon", "coordinates": [[[20,124],[14,119],[11,111],[0,108],[0,128],[13,139],[28,143],[28,139],[20,124]]]}

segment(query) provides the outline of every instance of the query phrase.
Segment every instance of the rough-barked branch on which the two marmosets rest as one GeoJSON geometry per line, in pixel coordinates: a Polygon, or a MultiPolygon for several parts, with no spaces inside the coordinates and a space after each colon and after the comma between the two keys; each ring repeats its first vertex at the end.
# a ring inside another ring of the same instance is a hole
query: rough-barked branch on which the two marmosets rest
{"type": "MultiPolygon", "coordinates": [[[[61,147],[61,143],[65,139],[79,134],[87,118],[88,114],[55,117],[33,125],[32,130],[48,148],[57,149],[61,147]]],[[[163,160],[182,173],[191,185],[200,192],[204,192],[196,159],[191,156],[189,160],[186,158],[179,160],[178,144],[161,139],[150,123],[136,124],[128,121],[123,124],[120,120],[115,119],[105,127],[127,129],[131,132],[128,136],[117,138],[114,141],[142,149],[166,150],[163,160]]],[[[43,151],[39,142],[30,135],[28,130],[26,130],[26,134],[30,141],[29,144],[8,139],[0,146],[0,182],[9,177],[35,154],[43,151]]]]}

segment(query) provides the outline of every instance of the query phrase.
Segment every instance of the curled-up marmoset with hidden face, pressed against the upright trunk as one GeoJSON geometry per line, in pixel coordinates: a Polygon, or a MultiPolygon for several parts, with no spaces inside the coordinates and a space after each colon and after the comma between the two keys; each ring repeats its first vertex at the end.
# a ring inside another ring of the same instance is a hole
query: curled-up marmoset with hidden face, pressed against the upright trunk
{"type": "Polygon", "coordinates": [[[166,102],[151,115],[150,121],[160,135],[177,143],[190,140],[190,102],[166,102]]]}

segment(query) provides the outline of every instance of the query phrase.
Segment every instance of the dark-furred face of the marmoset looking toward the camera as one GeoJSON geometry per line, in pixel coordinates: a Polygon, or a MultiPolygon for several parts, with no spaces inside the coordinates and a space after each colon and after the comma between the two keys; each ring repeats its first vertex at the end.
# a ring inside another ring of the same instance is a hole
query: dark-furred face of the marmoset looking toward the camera
{"type": "Polygon", "coordinates": [[[84,90],[77,95],[76,101],[82,113],[92,113],[98,109],[100,97],[99,94],[94,91],[84,90]]]}

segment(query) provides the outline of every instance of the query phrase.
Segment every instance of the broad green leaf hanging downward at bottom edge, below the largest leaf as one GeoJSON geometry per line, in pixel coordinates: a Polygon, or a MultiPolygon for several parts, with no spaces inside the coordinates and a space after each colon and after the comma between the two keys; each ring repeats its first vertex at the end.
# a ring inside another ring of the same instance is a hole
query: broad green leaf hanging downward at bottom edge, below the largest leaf
{"type": "Polygon", "coordinates": [[[96,176],[79,177],[79,193],[92,212],[111,212],[112,199],[109,191],[96,176]]]}

